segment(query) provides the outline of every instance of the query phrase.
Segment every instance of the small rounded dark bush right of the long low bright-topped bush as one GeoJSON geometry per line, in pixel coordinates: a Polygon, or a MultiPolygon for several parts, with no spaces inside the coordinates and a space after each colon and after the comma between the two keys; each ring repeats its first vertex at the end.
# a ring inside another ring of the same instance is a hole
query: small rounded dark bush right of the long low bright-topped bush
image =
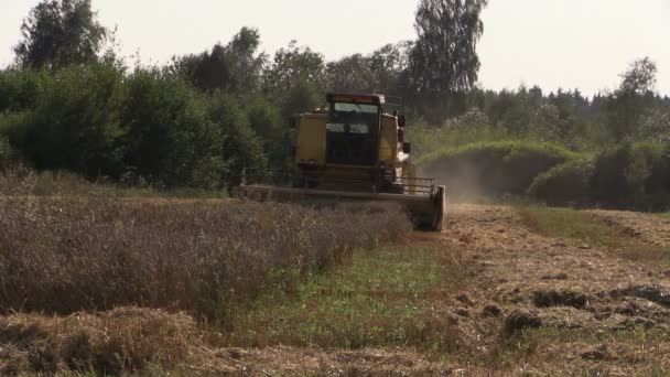
{"type": "Polygon", "coordinates": [[[528,194],[549,205],[587,205],[593,172],[591,160],[569,161],[538,175],[528,194]]]}

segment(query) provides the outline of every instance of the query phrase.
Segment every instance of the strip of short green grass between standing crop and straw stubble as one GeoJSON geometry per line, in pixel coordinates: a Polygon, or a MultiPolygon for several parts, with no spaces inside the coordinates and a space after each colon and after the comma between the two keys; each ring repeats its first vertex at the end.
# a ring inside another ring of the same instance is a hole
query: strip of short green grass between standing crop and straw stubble
{"type": "Polygon", "coordinates": [[[410,248],[355,252],[350,265],[313,277],[294,297],[274,292],[261,297],[237,316],[225,343],[456,349],[457,328],[440,306],[463,283],[467,267],[449,252],[410,248]]]}

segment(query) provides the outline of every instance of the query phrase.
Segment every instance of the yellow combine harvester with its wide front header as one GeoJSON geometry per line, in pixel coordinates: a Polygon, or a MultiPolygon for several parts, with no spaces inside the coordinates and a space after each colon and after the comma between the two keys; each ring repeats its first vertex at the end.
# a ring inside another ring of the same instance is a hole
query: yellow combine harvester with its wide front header
{"type": "Polygon", "coordinates": [[[446,194],[415,176],[404,117],[385,112],[381,95],[328,94],[327,106],[294,123],[295,171],[246,169],[242,196],[291,202],[392,202],[418,227],[441,230],[446,194]]]}

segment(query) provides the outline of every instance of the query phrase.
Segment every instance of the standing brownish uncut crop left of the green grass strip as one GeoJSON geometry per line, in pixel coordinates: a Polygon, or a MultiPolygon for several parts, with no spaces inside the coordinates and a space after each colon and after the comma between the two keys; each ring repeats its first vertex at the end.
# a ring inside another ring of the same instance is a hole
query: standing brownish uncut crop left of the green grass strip
{"type": "Polygon", "coordinates": [[[352,250],[407,235],[392,207],[25,198],[0,203],[0,310],[137,305],[226,321],[352,250]]]}

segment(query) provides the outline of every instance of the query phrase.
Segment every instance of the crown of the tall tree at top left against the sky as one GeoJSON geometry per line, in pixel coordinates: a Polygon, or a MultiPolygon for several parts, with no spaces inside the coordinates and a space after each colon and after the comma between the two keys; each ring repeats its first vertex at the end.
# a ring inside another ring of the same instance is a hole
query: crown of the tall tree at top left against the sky
{"type": "Polygon", "coordinates": [[[97,61],[107,29],[90,0],[43,0],[23,21],[14,52],[24,67],[58,68],[97,61]]]}

